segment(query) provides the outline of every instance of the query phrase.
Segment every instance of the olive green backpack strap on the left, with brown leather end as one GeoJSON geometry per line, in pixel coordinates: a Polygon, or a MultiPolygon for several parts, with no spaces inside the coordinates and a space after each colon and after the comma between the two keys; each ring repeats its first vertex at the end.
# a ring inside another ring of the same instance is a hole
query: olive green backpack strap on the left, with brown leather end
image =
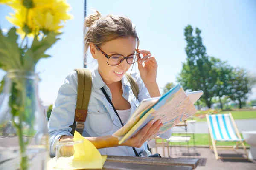
{"type": "Polygon", "coordinates": [[[78,88],[77,88],[77,100],[76,100],[76,111],[75,120],[71,125],[71,134],[74,135],[75,130],[80,134],[84,130],[84,122],[87,116],[88,104],[90,100],[90,94],[92,89],[92,74],[90,70],[86,68],[76,68],[78,88]],[[76,123],[77,122],[77,123],[76,123]]]}

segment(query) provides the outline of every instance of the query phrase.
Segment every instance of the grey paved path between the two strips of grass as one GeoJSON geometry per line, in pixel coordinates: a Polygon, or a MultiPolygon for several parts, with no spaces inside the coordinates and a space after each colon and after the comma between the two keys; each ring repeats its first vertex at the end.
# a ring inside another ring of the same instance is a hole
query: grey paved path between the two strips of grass
{"type": "MultiPolygon", "coordinates": [[[[256,119],[241,119],[235,120],[239,132],[256,130],[256,119]]],[[[173,127],[173,131],[180,131],[183,127],[173,127]]],[[[194,124],[188,124],[188,132],[194,133],[208,133],[207,122],[196,122],[194,124]]]]}

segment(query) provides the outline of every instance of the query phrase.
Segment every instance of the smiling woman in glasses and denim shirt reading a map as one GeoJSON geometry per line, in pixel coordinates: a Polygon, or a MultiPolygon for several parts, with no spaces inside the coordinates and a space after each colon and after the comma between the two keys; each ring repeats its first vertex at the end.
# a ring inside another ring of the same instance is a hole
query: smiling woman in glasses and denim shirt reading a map
{"type": "MultiPolygon", "coordinates": [[[[140,101],[160,96],[156,82],[155,57],[150,51],[137,49],[139,38],[135,27],[127,17],[112,15],[102,17],[96,11],[96,14],[86,17],[84,27],[88,28],[84,37],[84,51],[87,52],[90,47],[90,53],[97,60],[98,67],[92,71],[93,85],[82,135],[92,142],[102,155],[136,156],[136,152],[140,155],[145,151],[148,153],[146,140],[163,124],[160,120],[154,123],[148,122],[135,136],[119,145],[118,139],[112,134],[122,125],[101,88],[105,89],[125,124],[140,101]],[[140,71],[140,75],[132,75],[139,86],[137,98],[124,76],[134,62],[138,62],[140,71]]],[[[58,91],[48,124],[52,156],[55,155],[56,142],[73,138],[70,125],[74,121],[77,86],[77,73],[72,71],[58,91]]],[[[171,130],[160,135],[162,138],[170,136],[171,130]]]]}

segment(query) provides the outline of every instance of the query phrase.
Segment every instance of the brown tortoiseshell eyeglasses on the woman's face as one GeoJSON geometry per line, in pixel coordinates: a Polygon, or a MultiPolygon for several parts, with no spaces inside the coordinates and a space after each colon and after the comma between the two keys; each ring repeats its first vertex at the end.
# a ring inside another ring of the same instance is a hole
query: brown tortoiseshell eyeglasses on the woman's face
{"type": "Polygon", "coordinates": [[[119,65],[121,64],[121,62],[123,62],[123,60],[126,59],[127,64],[133,64],[135,62],[138,61],[138,59],[140,58],[140,53],[138,53],[138,51],[135,49],[135,51],[137,52],[137,54],[131,54],[128,55],[127,57],[121,55],[121,54],[113,54],[113,55],[108,55],[106,54],[104,51],[102,51],[97,45],[95,45],[95,47],[102,52],[103,55],[105,55],[105,57],[108,58],[108,65],[119,65]]]}

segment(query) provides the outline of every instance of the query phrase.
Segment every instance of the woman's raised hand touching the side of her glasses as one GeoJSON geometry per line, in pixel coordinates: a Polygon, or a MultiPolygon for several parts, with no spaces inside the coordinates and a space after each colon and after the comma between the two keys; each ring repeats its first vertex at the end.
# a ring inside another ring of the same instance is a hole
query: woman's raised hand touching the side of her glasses
{"type": "Polygon", "coordinates": [[[143,82],[156,83],[157,81],[157,61],[150,51],[138,50],[143,58],[138,59],[138,69],[140,71],[140,77],[143,82]]]}

